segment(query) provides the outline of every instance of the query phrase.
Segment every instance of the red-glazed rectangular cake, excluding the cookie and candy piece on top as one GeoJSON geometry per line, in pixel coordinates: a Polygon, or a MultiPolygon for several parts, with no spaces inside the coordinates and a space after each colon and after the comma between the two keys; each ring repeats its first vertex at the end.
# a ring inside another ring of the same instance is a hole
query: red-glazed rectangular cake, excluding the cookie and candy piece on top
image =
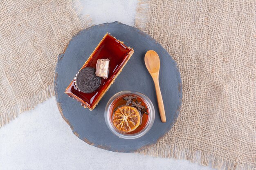
{"type": "Polygon", "coordinates": [[[106,88],[108,88],[108,86],[112,84],[112,80],[115,78],[115,75],[119,73],[122,66],[128,60],[131,51],[132,50],[129,49],[127,46],[121,44],[111,35],[107,34],[103,41],[99,44],[95,52],[92,54],[90,61],[88,61],[87,64],[85,64],[82,68],[96,68],[97,60],[108,59],[110,60],[108,78],[103,79],[101,77],[101,85],[96,91],[92,93],[83,93],[81,91],[78,91],[78,89],[74,86],[73,79],[71,84],[67,87],[65,93],[79,100],[88,108],[94,108],[94,105],[97,104],[99,97],[102,95],[102,93],[105,93],[105,91],[107,90],[106,88]]]}

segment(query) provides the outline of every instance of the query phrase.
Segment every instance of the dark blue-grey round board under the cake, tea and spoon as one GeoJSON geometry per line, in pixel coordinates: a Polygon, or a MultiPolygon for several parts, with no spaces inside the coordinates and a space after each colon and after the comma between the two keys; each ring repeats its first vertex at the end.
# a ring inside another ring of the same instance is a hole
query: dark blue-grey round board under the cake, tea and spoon
{"type": "Polygon", "coordinates": [[[173,126],[182,102],[180,72],[172,57],[149,35],[120,22],[92,26],[70,40],[65,53],[58,57],[54,90],[60,113],[73,133],[90,145],[114,152],[136,152],[156,144],[173,126]],[[133,47],[134,54],[97,107],[90,111],[81,107],[79,102],[68,97],[64,91],[107,32],[124,41],[127,46],[133,47]],[[159,82],[166,123],[161,122],[153,80],[144,64],[144,55],[148,50],[156,51],[160,57],[159,82]],[[124,90],[144,93],[155,107],[153,127],[138,139],[121,139],[112,134],[105,123],[106,103],[112,95],[124,90]]]}

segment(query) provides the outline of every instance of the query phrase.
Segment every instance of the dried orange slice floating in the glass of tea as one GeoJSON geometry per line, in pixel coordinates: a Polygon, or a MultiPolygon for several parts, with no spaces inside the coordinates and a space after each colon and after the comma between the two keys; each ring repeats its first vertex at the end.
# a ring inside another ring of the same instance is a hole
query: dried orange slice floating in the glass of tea
{"type": "Polygon", "coordinates": [[[140,124],[140,113],[137,108],[132,106],[119,106],[114,110],[113,124],[125,133],[132,132],[140,124]]]}

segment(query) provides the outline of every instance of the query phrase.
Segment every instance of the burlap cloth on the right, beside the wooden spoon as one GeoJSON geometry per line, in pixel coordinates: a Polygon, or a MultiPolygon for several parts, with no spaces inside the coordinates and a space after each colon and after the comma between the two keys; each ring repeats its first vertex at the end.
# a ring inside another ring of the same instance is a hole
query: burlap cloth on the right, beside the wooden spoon
{"type": "Polygon", "coordinates": [[[255,169],[256,1],[140,0],[135,24],[173,56],[183,88],[175,125],[141,153],[255,169]]]}

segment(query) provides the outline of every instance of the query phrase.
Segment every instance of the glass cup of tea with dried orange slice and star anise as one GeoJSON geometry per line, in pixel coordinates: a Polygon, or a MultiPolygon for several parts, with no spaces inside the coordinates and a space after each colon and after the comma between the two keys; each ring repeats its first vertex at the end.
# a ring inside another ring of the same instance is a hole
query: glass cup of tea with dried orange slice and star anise
{"type": "Polygon", "coordinates": [[[146,95],[121,91],[113,95],[105,108],[105,121],[112,133],[124,139],[145,135],[153,126],[155,109],[146,95]]]}

